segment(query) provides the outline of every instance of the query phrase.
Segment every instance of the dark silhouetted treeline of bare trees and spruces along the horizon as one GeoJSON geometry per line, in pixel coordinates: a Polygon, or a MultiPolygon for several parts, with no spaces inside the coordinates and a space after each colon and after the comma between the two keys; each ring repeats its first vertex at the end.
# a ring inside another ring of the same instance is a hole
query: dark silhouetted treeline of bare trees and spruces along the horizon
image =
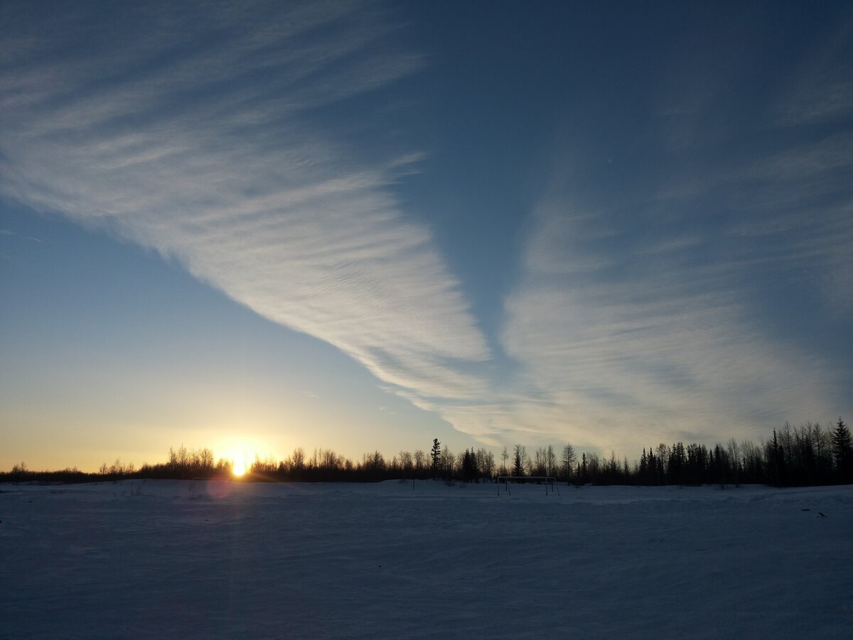
{"type": "MultiPolygon", "coordinates": [[[[491,481],[498,475],[554,477],[575,485],[740,485],[810,486],[853,483],[853,443],[850,430],[841,418],[833,429],[807,422],[800,427],[789,423],[774,429],[772,436],[757,444],[751,440],[726,445],[661,443],[643,449],[633,463],[621,461],[611,452],[601,457],[595,452],[577,455],[571,444],[555,451],[553,445],[537,447],[531,454],[525,445],[504,447],[500,463],[491,451],[469,449],[456,455],[432,440],[429,451],[400,451],[390,459],[380,451],[365,453],[360,461],[315,449],[312,454],[298,447],[290,457],[276,460],[255,457],[241,475],[248,481],[375,482],[396,479],[441,479],[491,481]]],[[[143,464],[134,468],[116,460],[102,464],[95,474],[67,468],[61,471],[32,471],[16,464],[10,472],[0,472],[2,482],[38,480],[47,482],[87,482],[125,479],[232,479],[234,463],[215,460],[210,449],[189,450],[183,445],[169,450],[165,463],[143,464]]]]}

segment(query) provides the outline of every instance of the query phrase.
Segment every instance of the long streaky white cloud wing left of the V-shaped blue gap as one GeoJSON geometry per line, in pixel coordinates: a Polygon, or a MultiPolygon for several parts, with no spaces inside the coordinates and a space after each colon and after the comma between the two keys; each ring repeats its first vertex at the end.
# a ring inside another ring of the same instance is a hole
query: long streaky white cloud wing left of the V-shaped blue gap
{"type": "MultiPolygon", "coordinates": [[[[148,6],[148,5],[147,5],[148,6]]],[[[427,226],[318,108],[421,67],[371,3],[4,9],[4,195],[154,247],[398,393],[481,393],[489,357],[427,226]],[[183,32],[187,29],[187,32],[183,32]],[[46,54],[53,55],[46,55],[46,54]],[[54,60],[46,63],[44,60],[54,60]],[[60,60],[60,61],[56,61],[60,60]]]]}

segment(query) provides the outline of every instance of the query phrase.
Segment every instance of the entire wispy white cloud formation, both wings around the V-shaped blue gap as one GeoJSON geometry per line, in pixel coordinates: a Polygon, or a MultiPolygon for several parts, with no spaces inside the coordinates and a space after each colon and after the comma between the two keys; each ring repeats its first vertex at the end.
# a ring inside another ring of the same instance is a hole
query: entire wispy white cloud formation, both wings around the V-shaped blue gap
{"type": "Polygon", "coordinates": [[[721,65],[711,39],[661,73],[658,119],[625,132],[648,145],[632,152],[642,167],[591,170],[584,193],[563,166],[583,167],[583,149],[554,162],[504,298],[496,372],[431,230],[392,195],[419,150],[361,144],[345,124],[424,66],[387,5],[31,10],[9,2],[0,16],[0,193],[153,247],[487,444],[633,454],[761,435],[843,394],[825,352],[767,330],[763,288],[805,279],[817,311],[853,314],[853,140],[838,124],[853,102],[828,63],[850,38],[742,120],[743,103],[726,102],[761,59],[742,38],[721,65]],[[808,134],[776,139],[798,127],[808,134]]]}

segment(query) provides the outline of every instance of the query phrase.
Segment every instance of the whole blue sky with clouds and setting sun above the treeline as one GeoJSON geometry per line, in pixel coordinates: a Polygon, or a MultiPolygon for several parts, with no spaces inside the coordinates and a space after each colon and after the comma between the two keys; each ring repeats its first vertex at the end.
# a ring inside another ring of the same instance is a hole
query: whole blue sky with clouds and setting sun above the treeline
{"type": "Polygon", "coordinates": [[[0,469],[853,414],[850,3],[0,22],[0,469]]]}

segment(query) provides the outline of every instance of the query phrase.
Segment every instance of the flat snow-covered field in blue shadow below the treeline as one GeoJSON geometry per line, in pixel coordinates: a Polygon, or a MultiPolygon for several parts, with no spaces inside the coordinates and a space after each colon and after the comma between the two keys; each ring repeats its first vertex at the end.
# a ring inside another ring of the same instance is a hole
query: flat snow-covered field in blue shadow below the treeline
{"type": "Polygon", "coordinates": [[[850,486],[0,490],[2,637],[853,637],[850,486]]]}

